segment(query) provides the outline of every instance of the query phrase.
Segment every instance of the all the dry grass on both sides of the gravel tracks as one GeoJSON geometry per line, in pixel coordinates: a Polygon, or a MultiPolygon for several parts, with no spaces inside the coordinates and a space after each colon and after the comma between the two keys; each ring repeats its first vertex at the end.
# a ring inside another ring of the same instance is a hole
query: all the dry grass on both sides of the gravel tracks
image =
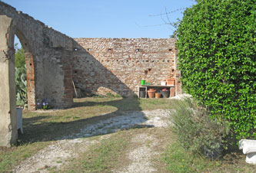
{"type": "MultiPolygon", "coordinates": [[[[70,109],[59,109],[54,111],[24,112],[24,135],[18,135],[18,145],[10,149],[0,148],[0,172],[12,171],[18,163],[54,143],[57,139],[71,135],[88,124],[96,123],[103,119],[118,116],[122,111],[141,111],[151,109],[175,109],[181,101],[168,99],[136,99],[116,97],[88,97],[75,99],[74,107],[70,109]]],[[[241,152],[234,152],[226,155],[218,161],[207,158],[194,158],[188,152],[182,150],[180,145],[175,143],[175,135],[168,129],[142,128],[129,129],[117,132],[109,139],[102,140],[97,145],[91,146],[88,151],[71,160],[70,165],[65,165],[62,171],[69,172],[110,172],[112,169],[121,168],[129,164],[124,157],[130,149],[135,148],[130,142],[132,136],[146,133],[154,135],[161,143],[155,147],[155,151],[164,155],[151,158],[151,161],[158,172],[186,172],[181,167],[177,170],[168,168],[171,162],[175,165],[183,164],[183,159],[188,161],[188,171],[199,172],[254,172],[256,166],[244,163],[245,155],[241,152]],[[168,149],[168,150],[167,150],[168,149]],[[177,150],[178,149],[178,150],[177,150]],[[178,151],[178,153],[177,153],[178,151]],[[175,157],[173,157],[175,155],[175,157]],[[163,160],[162,158],[165,158],[163,160]]],[[[92,137],[98,139],[100,136],[92,137]]],[[[150,144],[145,144],[150,145],[150,144]]],[[[184,165],[185,166],[185,165],[184,165]]],[[[183,167],[184,168],[184,167],[183,167]]],[[[48,171],[57,171],[55,168],[48,171]]],[[[188,172],[187,171],[187,172],[188,172]]]]}

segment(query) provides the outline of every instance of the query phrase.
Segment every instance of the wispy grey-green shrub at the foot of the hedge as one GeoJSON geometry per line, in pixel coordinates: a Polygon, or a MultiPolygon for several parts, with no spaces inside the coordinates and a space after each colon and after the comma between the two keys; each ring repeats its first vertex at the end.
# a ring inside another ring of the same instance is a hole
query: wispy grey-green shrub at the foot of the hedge
{"type": "Polygon", "coordinates": [[[209,118],[204,109],[186,100],[171,114],[172,129],[178,142],[194,154],[204,154],[208,158],[218,158],[224,149],[227,128],[221,122],[209,118]]]}

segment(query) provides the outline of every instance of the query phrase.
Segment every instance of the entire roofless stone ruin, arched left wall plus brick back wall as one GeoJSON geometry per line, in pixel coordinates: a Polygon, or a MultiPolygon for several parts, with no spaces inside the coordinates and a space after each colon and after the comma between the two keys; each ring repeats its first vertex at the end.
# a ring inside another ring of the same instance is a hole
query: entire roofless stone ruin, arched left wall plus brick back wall
{"type": "Polygon", "coordinates": [[[25,50],[30,110],[43,99],[71,107],[72,81],[86,92],[133,96],[141,77],[151,84],[175,77],[180,92],[175,39],[73,39],[0,2],[0,146],[17,139],[15,34],[25,50]]]}

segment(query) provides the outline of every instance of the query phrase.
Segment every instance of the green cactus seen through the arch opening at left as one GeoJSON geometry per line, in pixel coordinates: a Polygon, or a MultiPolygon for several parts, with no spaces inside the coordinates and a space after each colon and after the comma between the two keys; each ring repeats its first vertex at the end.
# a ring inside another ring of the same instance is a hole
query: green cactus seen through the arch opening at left
{"type": "Polygon", "coordinates": [[[27,74],[26,67],[15,67],[16,101],[18,106],[25,106],[27,98],[27,74]]]}

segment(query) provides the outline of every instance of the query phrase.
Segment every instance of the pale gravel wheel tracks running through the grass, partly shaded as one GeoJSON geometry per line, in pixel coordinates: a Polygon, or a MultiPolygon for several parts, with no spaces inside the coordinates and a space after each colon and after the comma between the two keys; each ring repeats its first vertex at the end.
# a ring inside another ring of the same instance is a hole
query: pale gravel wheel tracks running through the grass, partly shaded
{"type": "MultiPolygon", "coordinates": [[[[118,113],[116,117],[105,119],[86,126],[81,132],[75,135],[65,136],[63,139],[53,142],[45,149],[39,151],[31,158],[28,158],[13,171],[15,172],[48,172],[49,168],[61,168],[68,164],[68,159],[75,158],[78,153],[88,149],[101,139],[109,138],[114,132],[120,129],[131,129],[132,127],[166,128],[168,126],[167,110],[157,109],[153,111],[136,111],[118,113]],[[99,135],[98,139],[91,139],[91,136],[99,135]],[[83,151],[79,151],[83,150],[83,151]]],[[[136,146],[127,153],[128,166],[113,170],[114,172],[154,172],[157,171],[151,164],[150,158],[158,155],[153,149],[160,145],[153,135],[138,134],[133,137],[131,144],[136,146]],[[146,145],[148,142],[150,146],[146,145]]]]}

